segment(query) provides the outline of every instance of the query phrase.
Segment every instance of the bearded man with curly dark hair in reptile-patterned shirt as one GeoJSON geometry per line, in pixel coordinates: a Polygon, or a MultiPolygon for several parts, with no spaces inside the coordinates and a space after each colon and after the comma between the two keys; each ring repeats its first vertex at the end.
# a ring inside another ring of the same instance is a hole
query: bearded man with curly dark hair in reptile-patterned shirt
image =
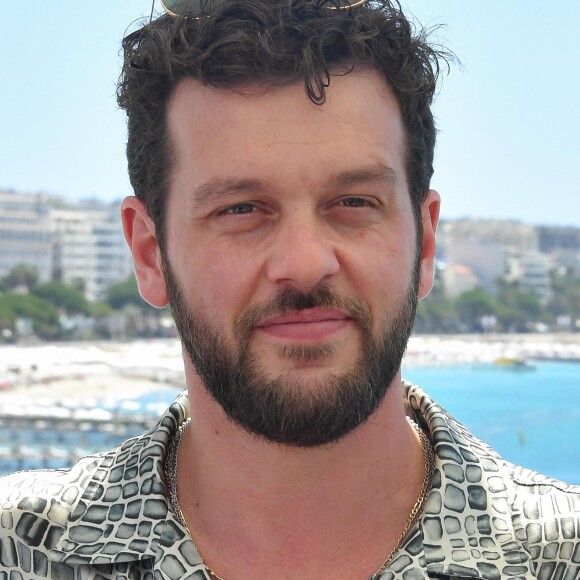
{"type": "Polygon", "coordinates": [[[5,578],[579,578],[580,489],[404,383],[441,58],[389,2],[180,2],[124,41],[143,297],[187,394],[3,484],[5,578]]]}

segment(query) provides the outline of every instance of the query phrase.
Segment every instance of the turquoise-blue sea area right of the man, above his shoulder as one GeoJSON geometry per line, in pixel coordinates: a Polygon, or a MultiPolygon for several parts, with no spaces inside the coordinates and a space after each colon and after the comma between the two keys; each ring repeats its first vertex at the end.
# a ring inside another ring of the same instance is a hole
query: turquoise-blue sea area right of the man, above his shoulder
{"type": "Polygon", "coordinates": [[[407,367],[403,376],[505,459],[580,484],[580,364],[407,367]]]}

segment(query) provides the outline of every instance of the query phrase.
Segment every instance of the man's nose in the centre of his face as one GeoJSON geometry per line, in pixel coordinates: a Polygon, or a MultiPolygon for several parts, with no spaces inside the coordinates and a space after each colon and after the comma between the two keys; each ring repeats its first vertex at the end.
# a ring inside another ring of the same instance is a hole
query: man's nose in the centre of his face
{"type": "Polygon", "coordinates": [[[267,264],[271,282],[308,293],[339,270],[335,243],[315,217],[295,216],[280,224],[267,264]]]}

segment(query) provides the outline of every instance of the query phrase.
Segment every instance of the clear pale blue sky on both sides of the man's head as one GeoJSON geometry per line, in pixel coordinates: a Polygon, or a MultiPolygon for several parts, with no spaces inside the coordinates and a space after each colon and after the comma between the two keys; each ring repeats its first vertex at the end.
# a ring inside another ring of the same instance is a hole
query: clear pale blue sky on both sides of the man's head
{"type": "MultiPolygon", "coordinates": [[[[403,0],[460,64],[442,77],[441,217],[580,227],[580,2],[403,0]]],[[[6,7],[5,7],[6,8],[6,7]]],[[[0,189],[120,199],[120,40],[147,0],[14,2],[0,19],[0,189]]]]}

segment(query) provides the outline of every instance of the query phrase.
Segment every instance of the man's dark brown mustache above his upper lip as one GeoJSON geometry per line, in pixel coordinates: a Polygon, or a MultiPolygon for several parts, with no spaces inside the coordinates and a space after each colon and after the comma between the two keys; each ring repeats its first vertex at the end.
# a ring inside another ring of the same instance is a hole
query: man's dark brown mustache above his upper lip
{"type": "Polygon", "coordinates": [[[246,308],[236,319],[234,331],[239,339],[244,339],[263,320],[308,308],[340,308],[364,329],[370,328],[372,321],[366,305],[336,294],[328,284],[319,284],[308,293],[287,286],[268,302],[246,308]]]}

